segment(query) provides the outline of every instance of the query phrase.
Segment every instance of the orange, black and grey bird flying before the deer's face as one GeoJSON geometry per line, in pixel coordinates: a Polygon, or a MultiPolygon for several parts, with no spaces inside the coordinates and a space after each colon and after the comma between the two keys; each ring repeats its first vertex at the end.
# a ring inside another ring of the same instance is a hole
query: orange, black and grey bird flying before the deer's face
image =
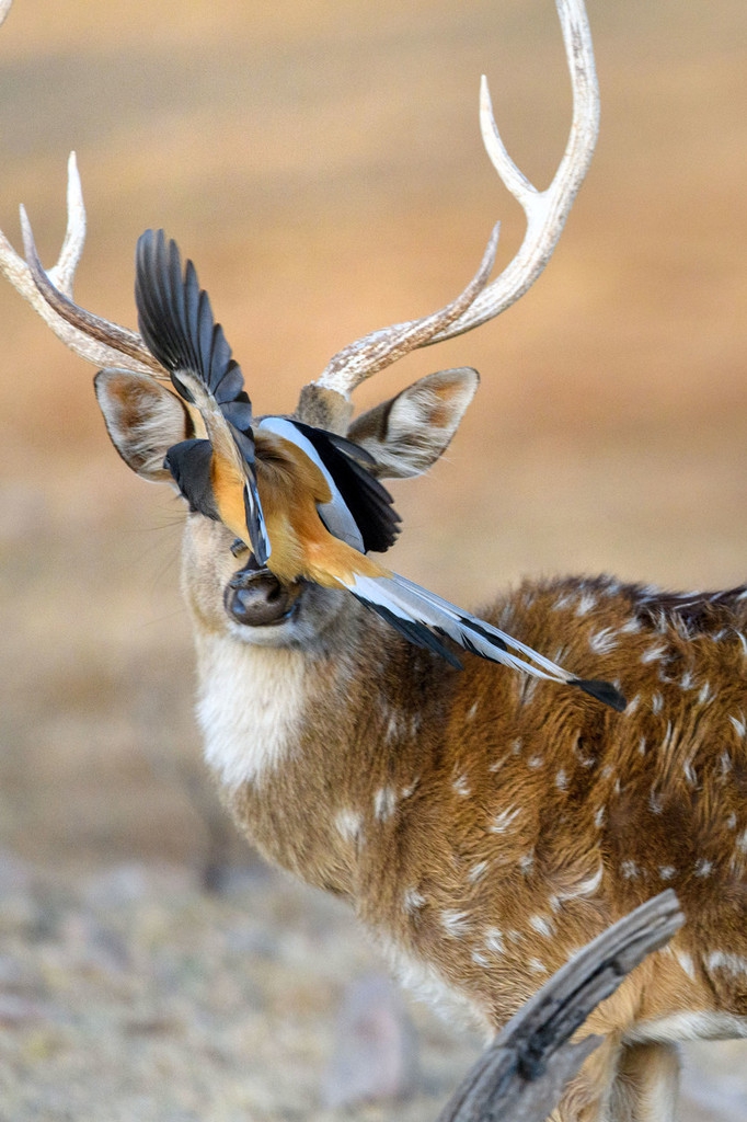
{"type": "Polygon", "coordinates": [[[446,645],[574,687],[622,711],[616,687],[578,678],[492,624],[387,569],[371,553],[395,542],[400,518],[354,442],[292,416],[255,419],[243,374],[215,323],[194,264],[146,230],[136,250],[142,339],[176,393],[201,414],[206,439],[168,449],[164,466],[192,511],[222,522],[282,583],[344,589],[409,643],[454,669],[446,645]]]}

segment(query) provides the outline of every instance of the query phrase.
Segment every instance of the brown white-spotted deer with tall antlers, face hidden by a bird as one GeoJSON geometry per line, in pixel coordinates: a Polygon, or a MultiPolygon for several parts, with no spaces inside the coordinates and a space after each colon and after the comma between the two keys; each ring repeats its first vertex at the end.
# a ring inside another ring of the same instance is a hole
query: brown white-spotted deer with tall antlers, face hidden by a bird
{"type": "MultiPolygon", "coordinates": [[[[295,416],[345,434],[378,478],[439,459],[477,376],[433,374],[356,419],[351,392],[516,301],[585,174],[598,122],[591,39],[581,0],[557,9],[574,108],[547,190],[510,160],[482,88],[488,155],[527,218],[515,259],[457,312],[353,342],[301,392],[295,416]]],[[[72,159],[57,265],[45,274],[3,238],[3,270],[73,351],[104,368],[99,404],[125,461],[167,481],[167,450],[201,434],[200,417],[136,332],[72,303],[83,238],[72,159]]],[[[747,1036],[747,586],[671,595],[562,578],[496,600],[494,624],[614,682],[628,699],[616,712],[470,655],[458,670],[345,592],[284,585],[247,554],[220,522],[187,514],[197,716],[240,829],[269,861],[350,901],[407,983],[487,1033],[592,936],[674,888],[685,926],[592,1014],[587,1028],[603,1043],[556,1112],[563,1122],[672,1120],[677,1041],[747,1036]]]]}

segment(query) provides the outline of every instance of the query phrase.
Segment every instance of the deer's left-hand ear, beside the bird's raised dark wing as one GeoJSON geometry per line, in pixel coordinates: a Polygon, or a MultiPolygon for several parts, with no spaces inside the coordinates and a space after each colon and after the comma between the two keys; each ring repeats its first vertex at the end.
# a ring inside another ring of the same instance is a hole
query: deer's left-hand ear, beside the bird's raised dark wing
{"type": "Polygon", "coordinates": [[[172,481],[164,467],[169,448],[194,436],[192,419],[176,394],[146,374],[114,368],[93,379],[107,432],[125,462],[144,479],[172,481]]]}

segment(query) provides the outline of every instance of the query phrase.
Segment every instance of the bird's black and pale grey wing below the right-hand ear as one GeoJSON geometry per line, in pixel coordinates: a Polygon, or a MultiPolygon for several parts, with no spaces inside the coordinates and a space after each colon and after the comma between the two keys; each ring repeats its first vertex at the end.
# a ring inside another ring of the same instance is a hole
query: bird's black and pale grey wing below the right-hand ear
{"type": "Polygon", "coordinates": [[[374,462],[368,452],[352,441],[290,417],[262,417],[258,427],[290,441],[322,473],[332,498],[320,503],[317,511],[331,534],[359,553],[384,553],[394,544],[399,515],[389,491],[365,467],[374,462]]]}

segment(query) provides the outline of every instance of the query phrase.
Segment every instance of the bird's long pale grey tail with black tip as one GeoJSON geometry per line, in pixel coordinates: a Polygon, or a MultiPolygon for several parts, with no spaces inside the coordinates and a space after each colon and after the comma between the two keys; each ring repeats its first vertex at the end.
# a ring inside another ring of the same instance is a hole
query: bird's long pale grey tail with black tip
{"type": "Polygon", "coordinates": [[[485,619],[463,611],[405,577],[397,573],[386,577],[357,574],[348,587],[361,604],[386,619],[411,643],[440,654],[452,666],[461,669],[461,662],[441,641],[443,636],[481,659],[501,663],[534,678],[573,686],[618,712],[625,709],[625,698],[610,682],[577,678],[526,643],[485,619]]]}

